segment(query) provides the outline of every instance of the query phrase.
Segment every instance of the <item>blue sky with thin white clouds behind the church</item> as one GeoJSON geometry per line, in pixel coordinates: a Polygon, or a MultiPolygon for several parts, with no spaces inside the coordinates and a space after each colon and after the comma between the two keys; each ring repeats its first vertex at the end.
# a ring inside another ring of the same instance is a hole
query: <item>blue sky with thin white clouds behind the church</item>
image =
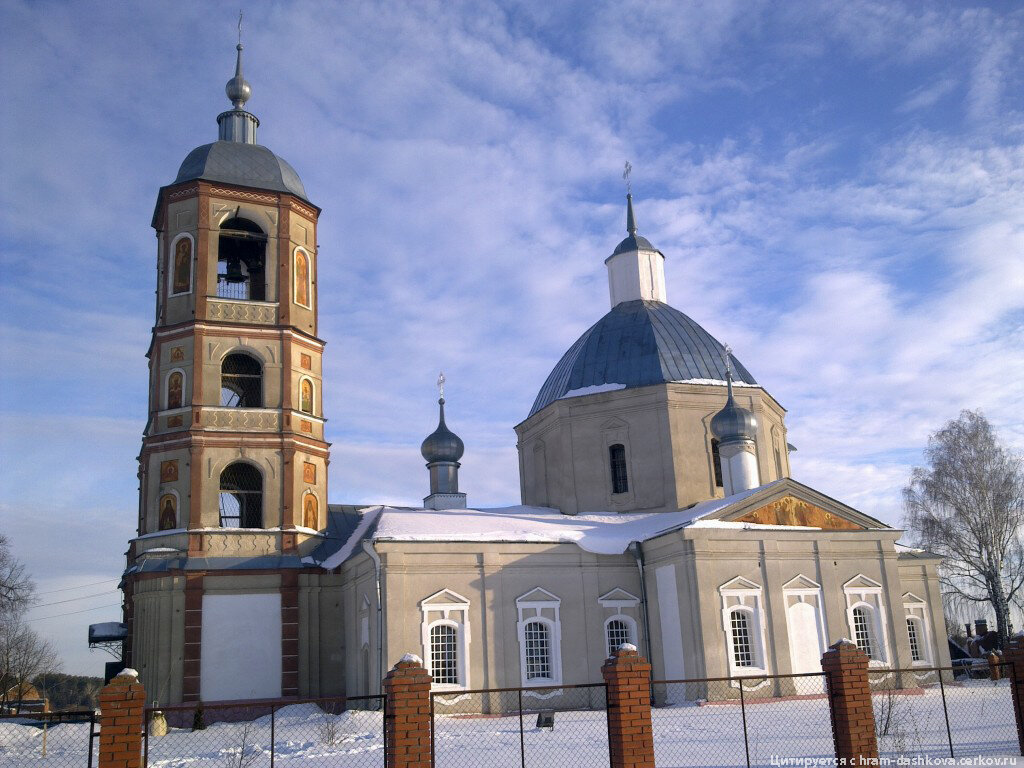
{"type": "MultiPolygon", "coordinates": [[[[1024,449],[1016,4],[245,5],[260,142],[324,209],[332,502],[425,496],[441,368],[470,503],[518,501],[512,426],[608,308],[626,160],[670,303],[788,410],[797,479],[898,524],[962,409],[1024,449]]],[[[118,616],[150,221],[216,138],[237,6],[0,3],[0,530],[69,672],[118,616]]]]}

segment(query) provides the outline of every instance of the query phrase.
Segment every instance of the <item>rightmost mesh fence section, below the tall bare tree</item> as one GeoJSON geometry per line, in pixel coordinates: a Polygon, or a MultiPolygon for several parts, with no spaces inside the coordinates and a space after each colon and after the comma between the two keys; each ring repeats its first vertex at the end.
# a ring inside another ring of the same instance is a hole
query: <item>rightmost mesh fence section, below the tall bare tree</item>
{"type": "Polygon", "coordinates": [[[995,667],[995,681],[951,667],[869,670],[879,757],[1019,755],[1011,665],[995,667]]]}

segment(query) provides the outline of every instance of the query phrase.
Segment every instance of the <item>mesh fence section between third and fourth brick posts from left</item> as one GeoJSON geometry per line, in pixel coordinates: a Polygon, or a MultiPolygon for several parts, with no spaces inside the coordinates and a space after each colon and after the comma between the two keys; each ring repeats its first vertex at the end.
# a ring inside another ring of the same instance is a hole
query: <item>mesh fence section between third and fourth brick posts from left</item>
{"type": "Polygon", "coordinates": [[[654,763],[769,765],[835,756],[822,673],[651,683],[654,763]]]}

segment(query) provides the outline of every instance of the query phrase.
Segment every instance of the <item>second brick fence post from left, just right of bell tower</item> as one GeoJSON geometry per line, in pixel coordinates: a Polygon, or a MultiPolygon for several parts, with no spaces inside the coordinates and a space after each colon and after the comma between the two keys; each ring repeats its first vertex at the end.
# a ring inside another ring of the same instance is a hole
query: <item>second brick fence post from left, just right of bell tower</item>
{"type": "Polygon", "coordinates": [[[384,678],[388,768],[430,768],[430,674],[407,653],[384,678]]]}

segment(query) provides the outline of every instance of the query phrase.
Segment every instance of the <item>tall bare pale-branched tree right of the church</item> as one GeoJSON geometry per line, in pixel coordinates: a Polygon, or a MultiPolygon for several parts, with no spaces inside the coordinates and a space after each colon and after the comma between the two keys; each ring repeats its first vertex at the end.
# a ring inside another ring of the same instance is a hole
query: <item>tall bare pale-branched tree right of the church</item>
{"type": "Polygon", "coordinates": [[[932,435],[927,467],[903,489],[905,524],[942,555],[953,604],[990,603],[1006,645],[1010,604],[1024,597],[1024,464],[999,444],[988,420],[964,411],[932,435]]]}

